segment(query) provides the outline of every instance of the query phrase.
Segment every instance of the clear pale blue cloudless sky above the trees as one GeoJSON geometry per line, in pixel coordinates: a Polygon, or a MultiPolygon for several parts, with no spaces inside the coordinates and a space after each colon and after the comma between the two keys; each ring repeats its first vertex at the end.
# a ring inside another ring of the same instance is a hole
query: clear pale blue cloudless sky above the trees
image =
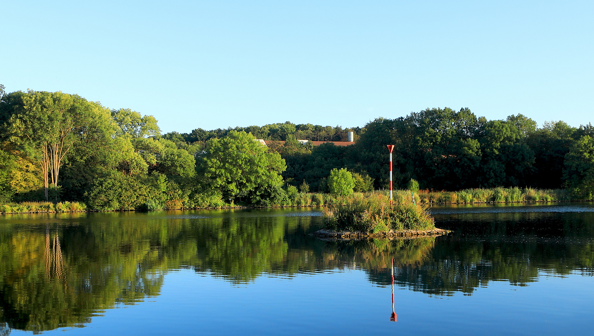
{"type": "Polygon", "coordinates": [[[163,132],[426,107],[594,122],[594,1],[4,1],[0,84],[163,132]]]}

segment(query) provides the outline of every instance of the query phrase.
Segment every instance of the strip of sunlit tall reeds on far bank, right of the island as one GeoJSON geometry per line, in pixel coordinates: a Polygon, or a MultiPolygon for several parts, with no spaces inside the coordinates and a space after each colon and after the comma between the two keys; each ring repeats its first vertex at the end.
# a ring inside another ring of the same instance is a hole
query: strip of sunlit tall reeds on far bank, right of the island
{"type": "Polygon", "coordinates": [[[423,203],[513,203],[538,201],[570,201],[567,189],[475,188],[460,191],[419,190],[423,203]]]}

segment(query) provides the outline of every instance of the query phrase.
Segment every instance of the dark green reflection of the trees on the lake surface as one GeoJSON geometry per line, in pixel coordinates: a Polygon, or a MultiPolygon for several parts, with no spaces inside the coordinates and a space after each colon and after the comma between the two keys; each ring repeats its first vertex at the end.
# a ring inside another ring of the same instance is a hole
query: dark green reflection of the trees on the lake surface
{"type": "MultiPolygon", "coordinates": [[[[470,295],[494,280],[526,286],[539,270],[593,275],[592,213],[482,222],[453,216],[440,219],[453,235],[350,242],[308,236],[320,217],[291,213],[6,216],[0,222],[0,335],[10,328],[81,327],[106,309],[159,295],[166,271],[179,268],[234,284],[356,268],[372,283],[429,295],[470,295]],[[544,222],[548,231],[538,225],[544,222]]],[[[394,301],[391,318],[396,321],[394,301]]]]}

